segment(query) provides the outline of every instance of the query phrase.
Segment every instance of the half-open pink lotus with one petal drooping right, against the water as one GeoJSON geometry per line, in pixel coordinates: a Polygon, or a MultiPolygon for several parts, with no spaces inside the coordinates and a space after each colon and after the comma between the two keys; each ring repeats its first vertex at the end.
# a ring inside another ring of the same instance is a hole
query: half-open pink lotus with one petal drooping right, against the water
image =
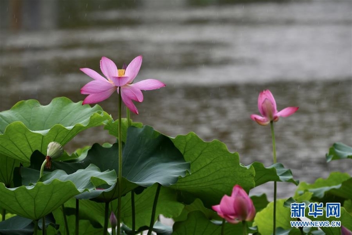
{"type": "Polygon", "coordinates": [[[252,114],[250,118],[259,125],[266,126],[271,121],[279,121],[279,117],[288,117],[294,114],[298,110],[298,107],[287,107],[278,112],[273,94],[269,90],[265,90],[259,94],[258,109],[261,116],[252,114]]]}

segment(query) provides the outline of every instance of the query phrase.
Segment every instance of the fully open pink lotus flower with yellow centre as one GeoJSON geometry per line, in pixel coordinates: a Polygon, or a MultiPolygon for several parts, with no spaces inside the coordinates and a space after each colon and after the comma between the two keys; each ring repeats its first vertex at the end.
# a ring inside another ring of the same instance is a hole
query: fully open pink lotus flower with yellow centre
{"type": "Polygon", "coordinates": [[[121,88],[122,101],[135,114],[138,110],[132,101],[143,101],[141,90],[155,90],[166,85],[155,79],[147,79],[141,82],[133,83],[142,64],[142,56],[137,56],[131,63],[123,69],[117,69],[116,64],[107,57],[100,60],[100,69],[106,76],[105,79],[98,72],[90,68],[80,68],[82,72],[89,75],[94,81],[87,83],[80,89],[80,93],[88,95],[84,100],[84,104],[95,104],[108,99],[115,91],[119,92],[121,88]]]}

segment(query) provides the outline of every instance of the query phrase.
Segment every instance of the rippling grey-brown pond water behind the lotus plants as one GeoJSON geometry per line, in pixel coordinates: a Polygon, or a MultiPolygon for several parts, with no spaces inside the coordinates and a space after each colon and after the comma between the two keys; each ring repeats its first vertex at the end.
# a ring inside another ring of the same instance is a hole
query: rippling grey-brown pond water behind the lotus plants
{"type": "MultiPolygon", "coordinates": [[[[136,81],[166,87],[144,92],[134,121],[169,136],[196,132],[237,151],[241,163],[272,164],[270,127],[250,119],[257,96],[270,89],[278,109],[299,106],[275,124],[278,162],[296,179],[330,172],[352,175],[352,161],[327,164],[334,142],[352,145],[351,1],[1,1],[0,110],[37,99],[48,104],[100,72],[107,56],[118,66],[143,55],[136,81]]],[[[117,95],[100,105],[117,116],[117,95]]],[[[65,148],[114,141],[86,130],[65,148]]],[[[271,197],[272,186],[265,192],[271,197]]],[[[279,184],[287,197],[295,187],[279,184]]]]}

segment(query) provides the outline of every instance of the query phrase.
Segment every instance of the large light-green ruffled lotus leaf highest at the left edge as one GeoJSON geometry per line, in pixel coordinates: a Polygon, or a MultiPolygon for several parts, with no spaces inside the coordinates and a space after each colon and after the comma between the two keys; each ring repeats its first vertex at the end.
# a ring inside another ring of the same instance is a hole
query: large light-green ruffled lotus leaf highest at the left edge
{"type": "Polygon", "coordinates": [[[20,101],[0,113],[0,153],[29,163],[34,150],[45,154],[49,142],[64,145],[80,131],[109,119],[99,105],[92,108],[65,97],[45,106],[37,100],[20,101]]]}

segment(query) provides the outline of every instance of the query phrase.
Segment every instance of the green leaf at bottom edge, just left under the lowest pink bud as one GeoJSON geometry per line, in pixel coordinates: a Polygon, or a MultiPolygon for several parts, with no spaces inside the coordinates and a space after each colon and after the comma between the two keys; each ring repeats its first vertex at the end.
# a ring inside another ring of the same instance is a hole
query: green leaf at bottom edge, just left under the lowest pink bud
{"type": "MultiPolygon", "coordinates": [[[[196,210],[188,214],[187,220],[178,221],[173,224],[173,233],[175,235],[184,234],[203,234],[203,235],[213,235],[221,234],[221,224],[217,225],[210,221],[203,212],[196,210]]],[[[242,224],[231,224],[226,223],[224,234],[243,234],[242,224]]]]}

